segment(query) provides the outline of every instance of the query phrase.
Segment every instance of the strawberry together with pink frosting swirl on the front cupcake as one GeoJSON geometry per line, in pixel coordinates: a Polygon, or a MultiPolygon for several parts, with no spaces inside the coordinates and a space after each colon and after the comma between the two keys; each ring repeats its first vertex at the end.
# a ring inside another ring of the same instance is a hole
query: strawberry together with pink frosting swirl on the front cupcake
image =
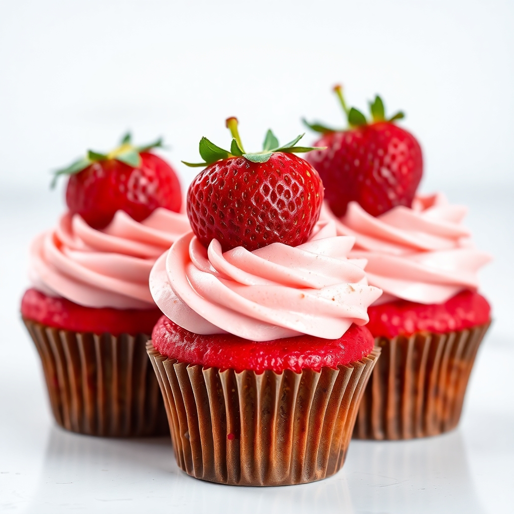
{"type": "MultiPolygon", "coordinates": [[[[205,162],[192,166],[206,169],[187,194],[193,232],[153,267],[156,304],[186,331],[246,342],[308,335],[322,345],[352,324],[364,325],[366,308],[381,291],[366,282],[365,261],[347,259],[354,238],[337,236],[332,222],[318,222],[322,182],[295,155],[311,149],[296,146],[301,136],[280,146],[268,131],[263,151],[246,153],[235,118],[227,125],[230,152],[200,141],[205,162]]],[[[291,359],[301,357],[297,352],[291,359]]]]}

